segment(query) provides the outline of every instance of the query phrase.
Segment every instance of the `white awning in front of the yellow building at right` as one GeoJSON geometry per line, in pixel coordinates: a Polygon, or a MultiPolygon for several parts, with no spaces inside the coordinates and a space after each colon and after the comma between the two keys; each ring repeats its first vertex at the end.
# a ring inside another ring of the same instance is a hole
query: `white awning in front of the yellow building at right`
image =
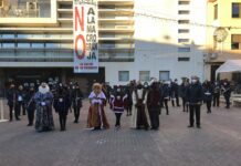
{"type": "Polygon", "coordinates": [[[231,73],[231,72],[241,72],[241,60],[228,60],[226,63],[219,66],[216,71],[218,73],[231,73]]]}

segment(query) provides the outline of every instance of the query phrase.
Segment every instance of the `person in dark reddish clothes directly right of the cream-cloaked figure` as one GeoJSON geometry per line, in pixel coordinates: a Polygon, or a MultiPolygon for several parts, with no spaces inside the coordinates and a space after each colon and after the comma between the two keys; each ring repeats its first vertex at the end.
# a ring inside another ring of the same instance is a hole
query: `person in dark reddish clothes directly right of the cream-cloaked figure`
{"type": "Polygon", "coordinates": [[[159,113],[160,113],[160,92],[158,90],[158,84],[153,82],[150,85],[150,91],[147,95],[147,107],[150,117],[150,129],[159,128],[159,113]]]}

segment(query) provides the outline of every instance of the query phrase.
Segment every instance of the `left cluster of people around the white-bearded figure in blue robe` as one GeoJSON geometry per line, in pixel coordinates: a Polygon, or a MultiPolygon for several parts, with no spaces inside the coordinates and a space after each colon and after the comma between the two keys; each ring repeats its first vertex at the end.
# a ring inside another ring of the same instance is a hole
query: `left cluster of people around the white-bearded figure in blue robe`
{"type": "Polygon", "coordinates": [[[33,86],[23,90],[22,85],[15,89],[15,85],[11,84],[7,93],[10,122],[13,120],[13,110],[17,121],[20,121],[21,111],[22,115],[25,115],[27,110],[28,126],[33,126],[35,114],[35,129],[52,131],[54,129],[52,108],[54,108],[59,114],[61,131],[65,131],[70,110],[74,111],[74,123],[78,123],[83,98],[78,84],[67,86],[60,83],[52,90],[46,83],[42,83],[38,90],[33,86]]]}

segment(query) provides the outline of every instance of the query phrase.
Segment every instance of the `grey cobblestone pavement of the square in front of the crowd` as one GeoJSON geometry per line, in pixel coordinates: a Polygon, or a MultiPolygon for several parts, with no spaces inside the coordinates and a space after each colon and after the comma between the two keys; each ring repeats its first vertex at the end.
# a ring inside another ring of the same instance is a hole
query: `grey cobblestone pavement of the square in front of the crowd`
{"type": "MultiPolygon", "coordinates": [[[[123,115],[122,129],[85,129],[88,103],[81,123],[69,114],[67,131],[36,133],[20,122],[0,123],[0,166],[241,166],[241,110],[202,106],[201,129],[187,128],[188,114],[171,107],[160,115],[159,131],[129,128],[123,115]]],[[[114,114],[107,108],[109,123],[114,114]]],[[[6,114],[8,108],[6,108],[6,114]]]]}

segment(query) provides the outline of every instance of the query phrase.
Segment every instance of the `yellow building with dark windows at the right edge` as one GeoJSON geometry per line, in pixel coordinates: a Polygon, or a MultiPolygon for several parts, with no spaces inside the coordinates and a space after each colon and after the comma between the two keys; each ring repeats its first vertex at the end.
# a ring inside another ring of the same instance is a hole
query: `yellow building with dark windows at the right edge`
{"type": "MultiPolygon", "coordinates": [[[[241,59],[241,0],[209,0],[207,3],[206,79],[216,80],[216,70],[227,60],[241,59]]],[[[239,74],[220,79],[241,80],[239,74]]]]}

